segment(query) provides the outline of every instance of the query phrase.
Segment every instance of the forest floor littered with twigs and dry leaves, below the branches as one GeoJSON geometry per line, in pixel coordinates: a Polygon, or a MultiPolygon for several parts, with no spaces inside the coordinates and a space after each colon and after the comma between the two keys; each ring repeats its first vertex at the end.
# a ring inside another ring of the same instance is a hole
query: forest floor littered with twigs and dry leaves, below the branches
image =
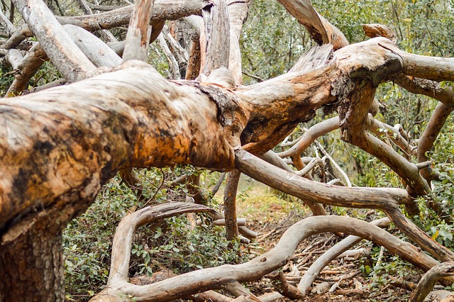
{"type": "MultiPolygon", "coordinates": [[[[244,188],[243,184],[243,193],[239,192],[238,196],[238,217],[246,218],[248,228],[260,234],[258,239],[248,246],[251,257],[271,250],[287,228],[311,215],[309,209],[297,199],[276,194],[262,184],[250,184],[248,188],[244,188]]],[[[364,216],[365,214],[366,211],[364,216]]],[[[299,279],[311,264],[340,240],[333,233],[325,233],[311,236],[301,242],[294,252],[294,257],[282,269],[287,282],[298,286],[299,279]]],[[[365,241],[353,249],[358,247],[369,250],[374,248],[365,241]]],[[[380,247],[375,247],[374,250],[380,251],[380,247]]],[[[375,256],[378,254],[379,252],[375,252],[375,256]]],[[[300,301],[408,301],[411,294],[408,289],[417,284],[421,274],[411,269],[410,264],[406,267],[408,271],[404,273],[399,272],[399,267],[395,267],[396,272],[392,272],[392,266],[395,264],[388,264],[387,259],[393,256],[386,251],[382,252],[382,255],[384,256],[379,264],[370,256],[362,259],[333,260],[314,281],[306,298],[300,301]],[[370,271],[374,274],[366,276],[365,267],[372,267],[370,271]]],[[[256,296],[276,291],[272,281],[267,278],[248,284],[248,288],[256,296]]],[[[291,300],[285,298],[282,301],[291,300]]]]}

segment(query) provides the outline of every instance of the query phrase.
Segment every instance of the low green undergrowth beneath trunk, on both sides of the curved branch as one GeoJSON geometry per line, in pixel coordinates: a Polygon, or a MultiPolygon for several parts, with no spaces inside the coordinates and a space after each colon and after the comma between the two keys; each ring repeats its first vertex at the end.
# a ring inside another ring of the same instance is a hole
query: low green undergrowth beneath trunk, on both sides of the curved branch
{"type": "MultiPolygon", "coordinates": [[[[101,291],[109,276],[111,244],[121,218],[147,204],[184,201],[185,188],[169,188],[169,179],[182,173],[199,173],[194,167],[143,169],[138,171],[145,184],[145,201],[115,177],[103,186],[90,208],[72,220],[63,234],[67,299],[88,300],[101,291]]],[[[208,217],[200,216],[202,220],[208,217]]],[[[242,262],[240,242],[228,242],[225,228],[202,224],[192,229],[184,216],[167,218],[151,230],[138,230],[131,250],[130,276],[151,275],[161,267],[181,274],[194,269],[242,262]]]]}

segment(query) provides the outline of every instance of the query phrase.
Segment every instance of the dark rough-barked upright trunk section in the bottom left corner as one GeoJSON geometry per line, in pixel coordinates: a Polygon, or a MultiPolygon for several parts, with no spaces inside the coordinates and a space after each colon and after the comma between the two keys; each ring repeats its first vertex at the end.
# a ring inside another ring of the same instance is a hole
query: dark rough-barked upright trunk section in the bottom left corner
{"type": "Polygon", "coordinates": [[[65,300],[62,234],[55,215],[46,214],[33,215],[1,238],[0,301],[65,300]]]}

